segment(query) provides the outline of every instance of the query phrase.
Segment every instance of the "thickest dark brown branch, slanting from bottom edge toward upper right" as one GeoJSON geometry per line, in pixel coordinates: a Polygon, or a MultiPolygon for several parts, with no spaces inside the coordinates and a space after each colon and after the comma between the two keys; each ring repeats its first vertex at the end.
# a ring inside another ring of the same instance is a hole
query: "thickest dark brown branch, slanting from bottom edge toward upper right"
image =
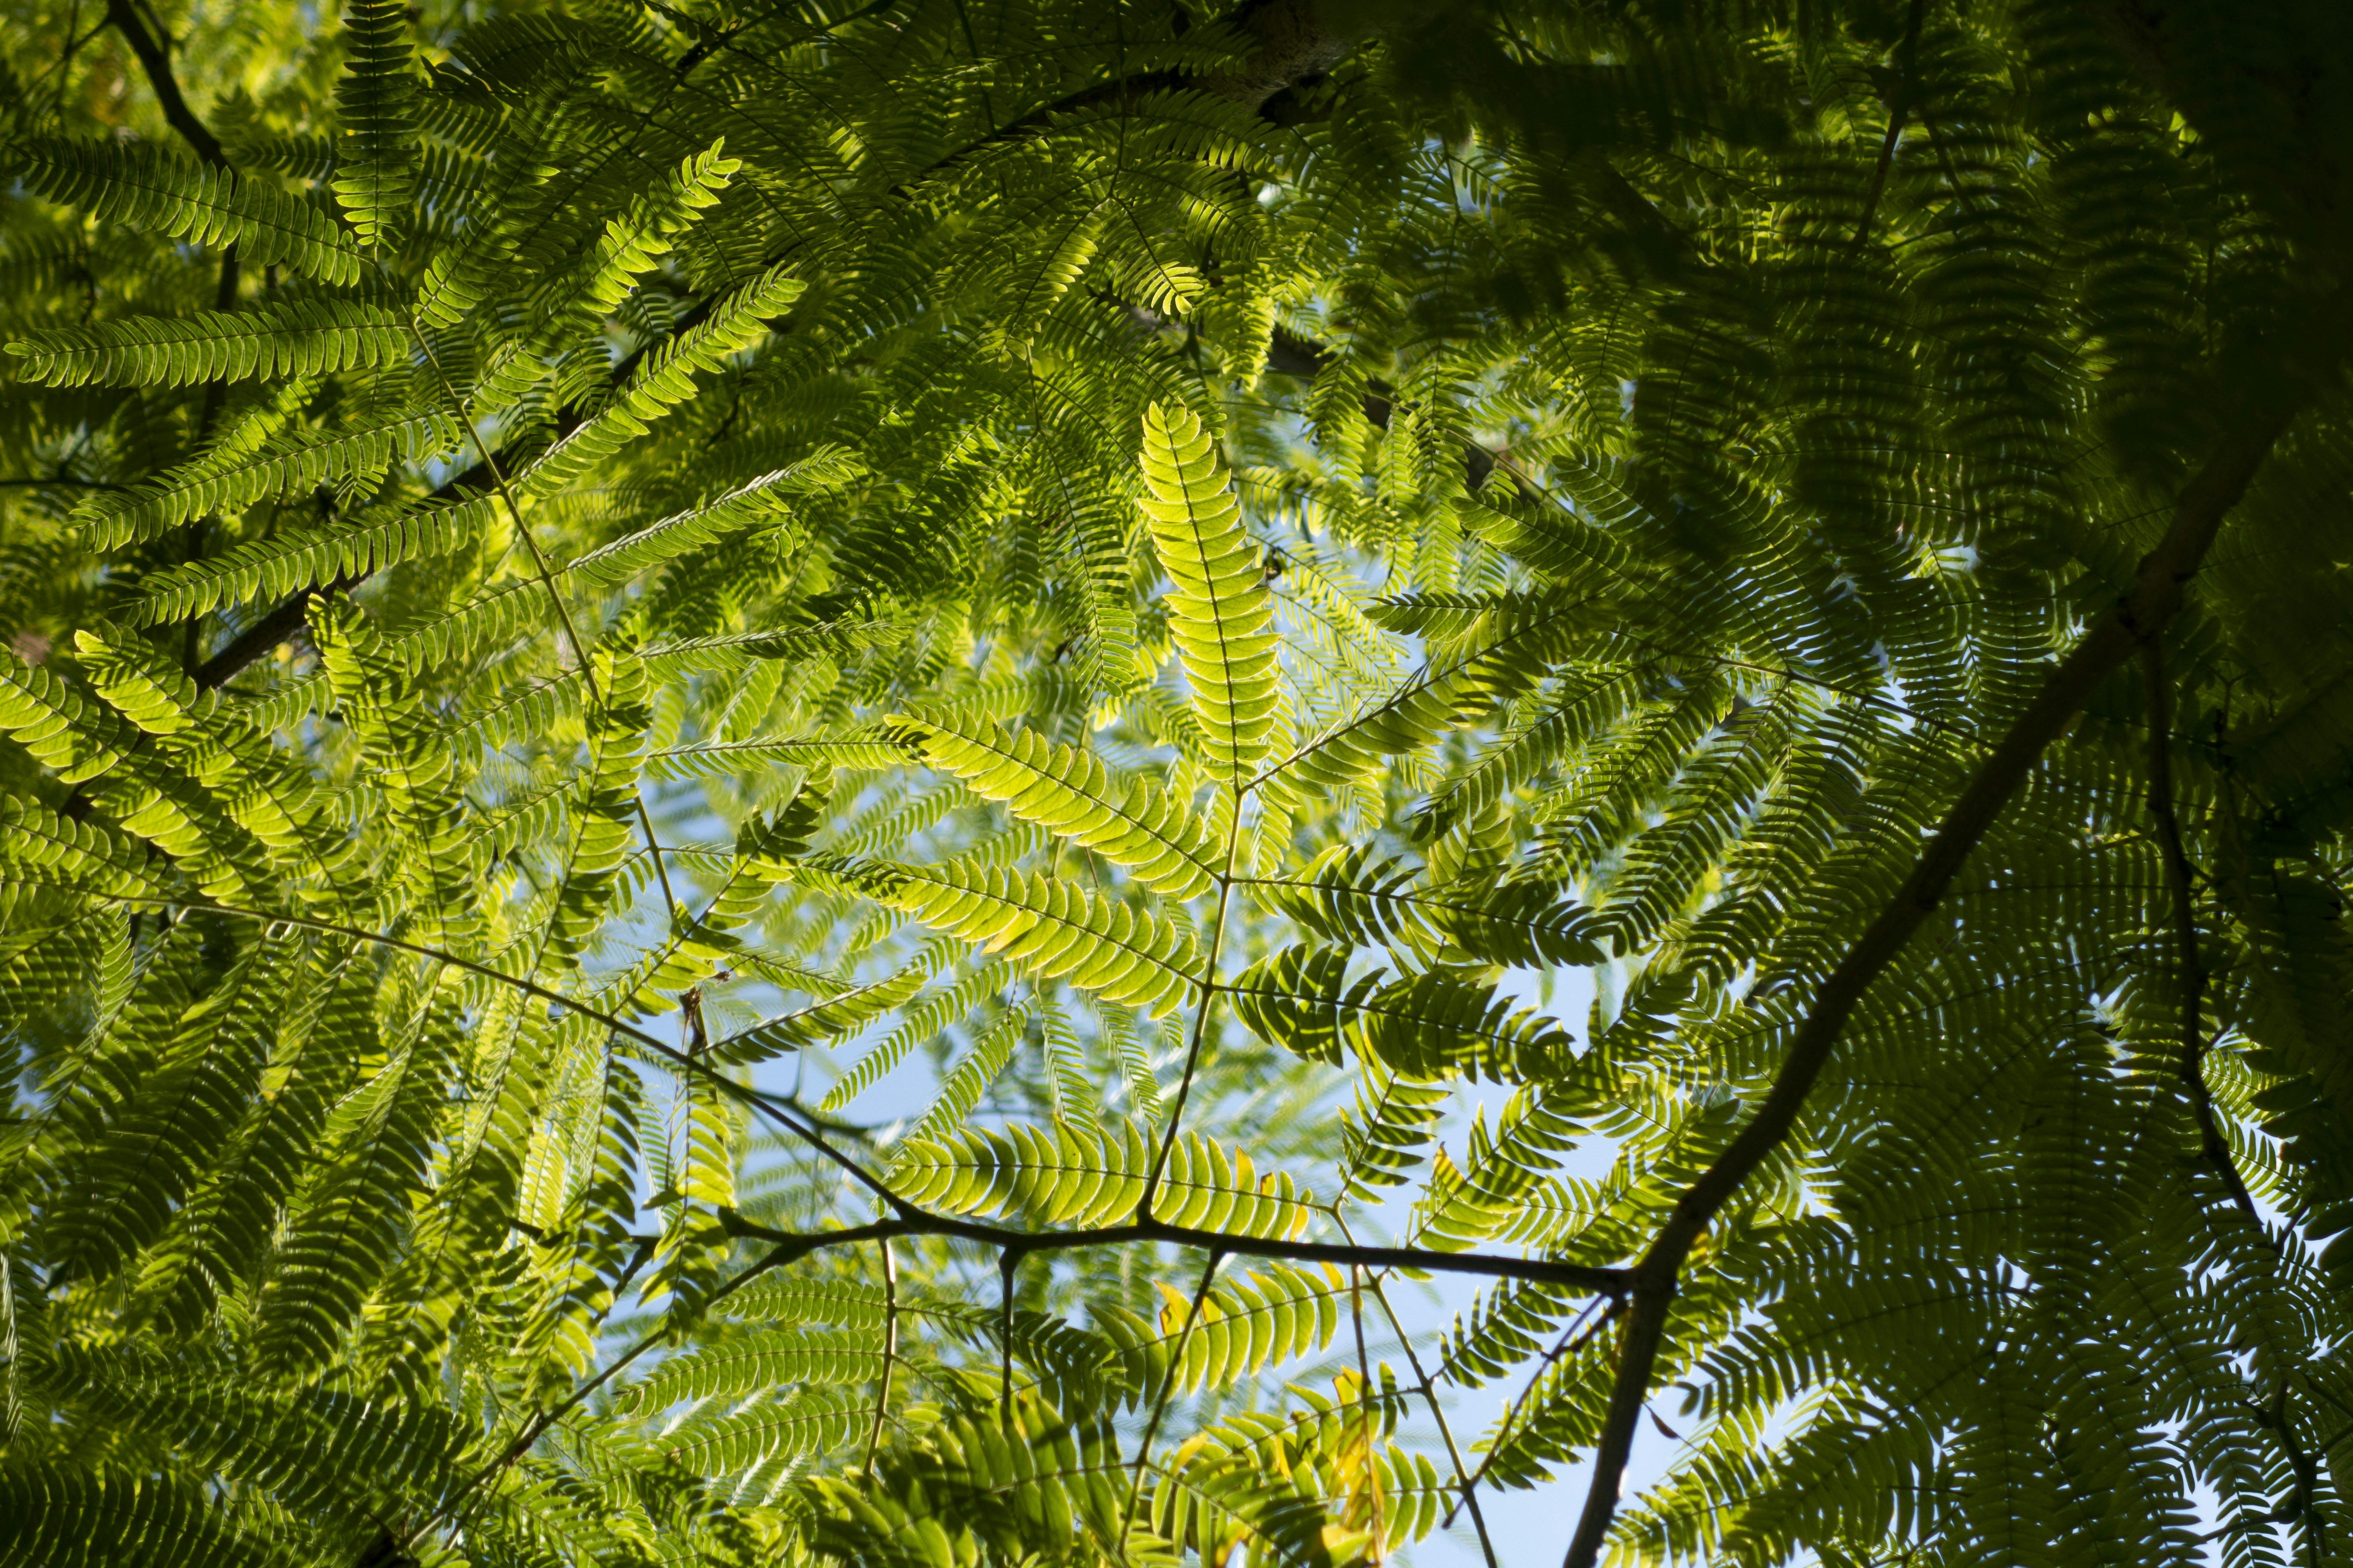
{"type": "Polygon", "coordinates": [[[1652,1366],[1666,1335],[1666,1316],[1675,1300],[1675,1284],[1685,1258],[1706,1232],[1715,1213],[1732,1199],[1748,1175],[1781,1145],[1807,1091],[1821,1077],[1838,1037],[1864,999],[1871,980],[1885,971],[1911,940],[1913,931],[1944,898],[1960,872],[1960,865],[1986,837],[2002,806],[2042,759],[2042,752],[2073,724],[2085,701],[2115,675],[2134,649],[2165,630],[2181,607],[2181,585],[2198,571],[2221,520],[2238,505],[2238,498],[2254,480],[2254,470],[2271,454],[2273,442],[2294,416],[2294,404],[2285,397],[2266,400],[2247,411],[2240,428],[2228,433],[2214,456],[2205,463],[2174,508],[2174,522],[2165,538],[2141,559],[2132,592],[2101,616],[2082,642],[2059,661],[2042,691],[2026,712],[1995,743],[1993,752],[1969,776],[1960,799],[1953,802],[1927,851],[1913,865],[1904,886],[1880,910],[1878,919],[1838,961],[1838,969],[1814,994],[1814,1011],[1798,1025],[1772,1088],[1758,1105],[1755,1117],[1739,1131],[1732,1145],[1711,1164],[1675,1201],[1673,1215],[1659,1229],[1649,1251],[1631,1269],[1633,1307],[1626,1319],[1626,1338],[1619,1347],[1617,1380],[1609,1389],[1609,1415],[1602,1422],[1598,1450],[1593,1455],[1593,1483],[1586,1493],[1577,1535],[1569,1542],[1565,1568],[1593,1568],[1600,1559],[1609,1521],[1617,1516],[1619,1483],[1626,1474],[1626,1458],[1633,1450],[1633,1429],[1649,1399],[1652,1366]]]}

